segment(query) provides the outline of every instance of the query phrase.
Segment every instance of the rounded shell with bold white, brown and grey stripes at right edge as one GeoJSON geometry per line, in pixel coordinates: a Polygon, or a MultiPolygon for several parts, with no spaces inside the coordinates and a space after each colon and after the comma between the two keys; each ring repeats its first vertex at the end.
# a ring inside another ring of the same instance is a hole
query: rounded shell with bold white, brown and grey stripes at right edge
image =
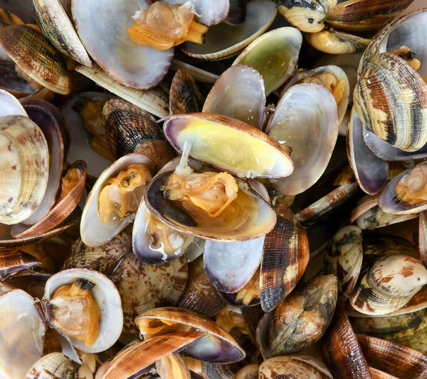
{"type": "Polygon", "coordinates": [[[367,64],[354,90],[354,107],[364,127],[404,151],[427,142],[427,84],[394,53],[367,64]]]}

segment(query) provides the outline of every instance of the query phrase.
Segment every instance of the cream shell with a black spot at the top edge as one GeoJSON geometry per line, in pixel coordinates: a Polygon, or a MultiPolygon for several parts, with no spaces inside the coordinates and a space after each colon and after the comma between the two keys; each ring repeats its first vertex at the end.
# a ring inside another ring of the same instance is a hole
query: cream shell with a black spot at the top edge
{"type": "Polygon", "coordinates": [[[315,33],[325,27],[327,14],[337,5],[337,0],[278,0],[278,9],[292,26],[315,33]]]}

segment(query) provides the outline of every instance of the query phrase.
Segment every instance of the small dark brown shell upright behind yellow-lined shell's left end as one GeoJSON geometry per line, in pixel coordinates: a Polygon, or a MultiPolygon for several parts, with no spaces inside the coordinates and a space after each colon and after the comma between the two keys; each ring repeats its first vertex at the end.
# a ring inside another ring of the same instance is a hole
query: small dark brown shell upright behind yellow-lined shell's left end
{"type": "Polygon", "coordinates": [[[193,77],[184,68],[176,71],[169,92],[169,109],[172,114],[201,112],[204,98],[193,77]]]}

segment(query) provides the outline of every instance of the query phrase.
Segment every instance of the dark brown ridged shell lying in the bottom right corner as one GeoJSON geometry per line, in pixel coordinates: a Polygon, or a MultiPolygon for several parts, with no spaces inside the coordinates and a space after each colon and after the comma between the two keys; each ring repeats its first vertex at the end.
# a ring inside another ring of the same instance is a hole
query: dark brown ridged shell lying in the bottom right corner
{"type": "Polygon", "coordinates": [[[423,378],[427,375],[427,355],[399,343],[357,334],[369,365],[398,378],[423,378]]]}

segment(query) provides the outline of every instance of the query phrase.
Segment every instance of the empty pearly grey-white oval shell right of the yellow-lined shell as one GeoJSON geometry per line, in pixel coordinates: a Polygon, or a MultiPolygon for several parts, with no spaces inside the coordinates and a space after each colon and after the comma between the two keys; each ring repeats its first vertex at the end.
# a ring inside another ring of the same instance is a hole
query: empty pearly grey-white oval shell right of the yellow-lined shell
{"type": "Polygon", "coordinates": [[[283,194],[300,194],[326,170],[338,137],[338,113],[334,96],[315,83],[292,85],[270,118],[267,133],[292,148],[295,169],[289,177],[273,180],[283,194]]]}

